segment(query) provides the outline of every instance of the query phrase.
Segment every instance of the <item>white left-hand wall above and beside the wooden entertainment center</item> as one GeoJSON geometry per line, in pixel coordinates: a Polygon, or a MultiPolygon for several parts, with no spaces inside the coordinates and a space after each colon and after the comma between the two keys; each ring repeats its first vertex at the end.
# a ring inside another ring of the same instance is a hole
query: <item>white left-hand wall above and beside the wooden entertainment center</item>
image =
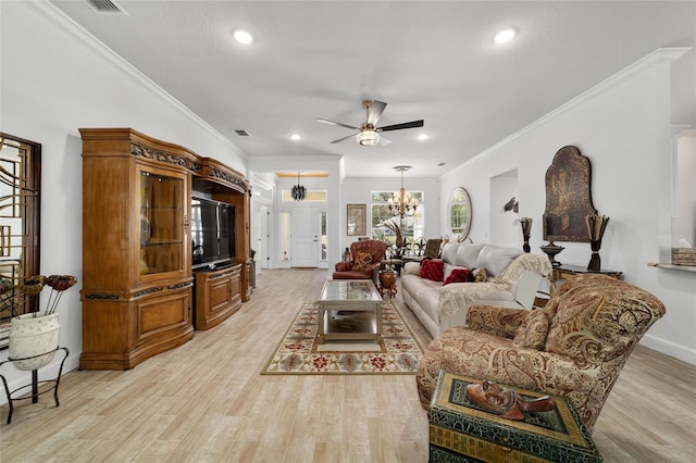
{"type": "MultiPolygon", "coordinates": [[[[71,351],[67,371],[77,367],[82,351],[77,128],[133,127],[241,173],[246,173],[245,155],[50,3],[2,1],[0,25],[0,130],[42,146],[41,272],[72,274],[78,280],[65,292],[60,309],[61,345],[71,351]]],[[[0,352],[4,358],[7,351],[0,352]]]]}

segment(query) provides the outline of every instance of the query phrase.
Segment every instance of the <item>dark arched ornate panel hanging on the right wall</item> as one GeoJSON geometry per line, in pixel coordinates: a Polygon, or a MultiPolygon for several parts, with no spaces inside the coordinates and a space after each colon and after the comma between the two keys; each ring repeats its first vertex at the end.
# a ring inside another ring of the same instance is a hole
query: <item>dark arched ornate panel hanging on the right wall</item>
{"type": "Polygon", "coordinates": [[[576,147],[556,152],[546,171],[544,239],[548,241],[589,241],[587,215],[596,215],[589,192],[589,159],[576,147]]]}

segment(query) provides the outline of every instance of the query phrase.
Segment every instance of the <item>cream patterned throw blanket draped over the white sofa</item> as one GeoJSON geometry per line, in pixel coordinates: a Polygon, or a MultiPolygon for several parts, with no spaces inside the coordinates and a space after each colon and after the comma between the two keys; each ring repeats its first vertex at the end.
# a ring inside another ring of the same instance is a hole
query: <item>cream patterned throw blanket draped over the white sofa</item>
{"type": "Polygon", "coordinates": [[[440,320],[451,318],[461,308],[481,299],[509,299],[514,281],[519,281],[525,270],[545,277],[551,273],[548,256],[521,254],[498,276],[486,283],[460,283],[443,286],[437,297],[442,308],[440,320]]]}

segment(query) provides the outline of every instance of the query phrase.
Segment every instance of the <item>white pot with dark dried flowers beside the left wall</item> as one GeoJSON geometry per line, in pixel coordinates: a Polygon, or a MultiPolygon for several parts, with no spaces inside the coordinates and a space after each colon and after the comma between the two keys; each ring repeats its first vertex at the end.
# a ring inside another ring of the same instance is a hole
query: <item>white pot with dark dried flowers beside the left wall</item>
{"type": "Polygon", "coordinates": [[[0,306],[12,312],[10,359],[26,359],[14,363],[17,368],[38,370],[53,359],[60,339],[58,304],[63,291],[75,283],[77,279],[71,275],[35,275],[20,287],[8,285],[7,279],[2,281],[0,306]],[[46,309],[18,314],[18,308],[25,305],[27,298],[39,295],[46,286],[51,288],[46,309]]]}

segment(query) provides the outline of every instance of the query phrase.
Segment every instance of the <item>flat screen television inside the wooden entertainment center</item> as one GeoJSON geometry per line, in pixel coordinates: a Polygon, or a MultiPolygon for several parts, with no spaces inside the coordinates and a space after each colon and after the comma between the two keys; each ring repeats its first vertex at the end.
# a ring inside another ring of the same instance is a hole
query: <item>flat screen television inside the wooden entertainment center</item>
{"type": "Polygon", "coordinates": [[[192,267],[215,267],[235,258],[235,207],[191,198],[192,267]]]}

